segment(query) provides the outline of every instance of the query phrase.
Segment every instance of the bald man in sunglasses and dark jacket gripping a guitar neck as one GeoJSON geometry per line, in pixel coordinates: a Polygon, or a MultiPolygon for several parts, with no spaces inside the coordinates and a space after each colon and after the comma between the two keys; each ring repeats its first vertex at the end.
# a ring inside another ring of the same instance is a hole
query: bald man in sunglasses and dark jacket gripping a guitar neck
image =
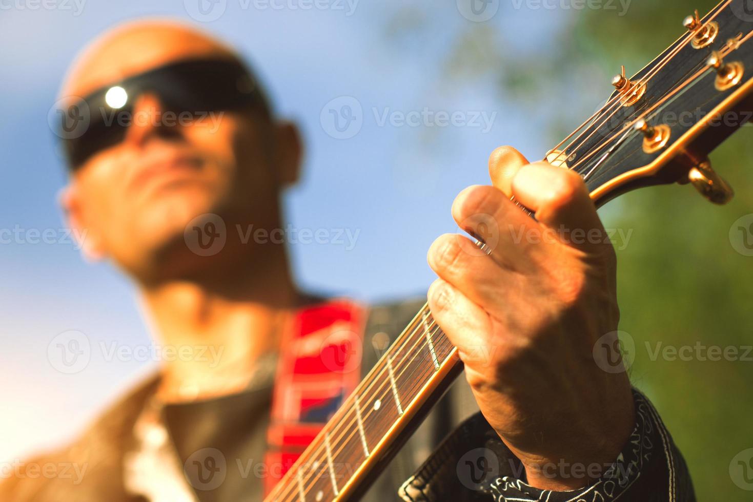
{"type": "MultiPolygon", "coordinates": [[[[167,362],[72,446],[38,460],[84,464],[80,483],[11,479],[3,500],[261,500],[275,475],[244,475],[236,461],[290,452],[270,431],[287,426],[278,392],[296,377],[285,361],[302,345],[290,333],[309,336],[301,319],[335,312],[349,333],[360,330],[366,346],[383,351],[417,306],[366,312],[309,297],[297,291],[279,240],[218,232],[252,224],[271,236],[282,228],[280,192],[296,181],[301,159],[295,127],[276,120],[224,44],[171,23],[122,26],[78,59],[62,97],[76,107],[69,118],[88,110],[84,132],[66,138],[71,178],[62,197],[72,227],[87,229],[84,253],[133,278],[161,344],[224,355],[213,364],[167,362]],[[105,108],[133,120],[104,123],[97,113],[105,108]],[[193,120],[167,124],[166,111],[193,120]],[[209,128],[200,111],[221,112],[221,120],[209,128]],[[212,248],[219,235],[224,242],[212,248]],[[204,468],[222,470],[222,480],[203,476],[204,468]]],[[[480,223],[603,232],[577,174],[529,164],[512,148],[492,153],[489,174],[490,186],[469,187],[453,204],[469,233],[480,223]]],[[[391,499],[400,488],[404,500],[694,500],[657,413],[626,373],[601,370],[593,358],[594,343],[614,333],[619,317],[611,246],[514,242],[506,232],[494,241],[480,253],[471,240],[446,235],[428,251],[439,275],[428,303],[459,348],[470,386],[454,386],[367,497],[391,499]],[[468,388],[481,413],[458,427],[473,411],[463,404],[468,388]],[[482,476],[465,479],[466,464],[482,476]]],[[[359,373],[373,354],[364,349],[359,373]]],[[[347,390],[337,387],[340,373],[335,388],[347,390]]],[[[302,423],[312,416],[299,415],[302,423]]]]}

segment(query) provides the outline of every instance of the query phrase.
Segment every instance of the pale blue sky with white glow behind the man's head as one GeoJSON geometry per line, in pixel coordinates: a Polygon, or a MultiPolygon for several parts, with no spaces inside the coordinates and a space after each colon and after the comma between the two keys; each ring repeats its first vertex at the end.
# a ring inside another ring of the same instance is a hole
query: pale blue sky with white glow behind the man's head
{"type": "MultiPolygon", "coordinates": [[[[0,10],[0,230],[21,236],[0,244],[0,461],[74,434],[154,367],[154,361],[105,361],[93,351],[86,369],[69,375],[47,359],[50,341],[67,330],[86,333],[93,345],[149,343],[129,281],[107,264],[84,263],[61,230],[56,196],[65,175],[47,113],[69,62],[108,26],[142,16],[196,23],[187,14],[193,0],[55,0],[52,10],[32,10],[30,1],[0,10]],[[34,230],[48,230],[54,242],[35,243],[34,230]]],[[[450,217],[456,193],[486,183],[495,146],[516,145],[541,158],[548,145],[536,131],[551,115],[525,116],[515,96],[501,96],[483,79],[447,84],[447,53],[478,28],[456,2],[356,2],[351,12],[332,0],[328,9],[291,8],[301,2],[280,0],[282,8],[273,9],[226,0],[221,17],[197,23],[239,47],[279,114],[301,126],[306,161],[303,180],[285,196],[288,221],[358,231],[352,249],[292,246],[297,280],[303,288],[369,301],[424,294],[433,278],[428,246],[457,230],[450,217]],[[332,137],[322,119],[328,103],[343,96],[362,111],[361,128],[344,139],[332,137]],[[457,112],[460,125],[401,122],[424,110],[457,112]]],[[[500,3],[480,24],[503,33],[505,50],[535,57],[567,15],[500,3]]]]}

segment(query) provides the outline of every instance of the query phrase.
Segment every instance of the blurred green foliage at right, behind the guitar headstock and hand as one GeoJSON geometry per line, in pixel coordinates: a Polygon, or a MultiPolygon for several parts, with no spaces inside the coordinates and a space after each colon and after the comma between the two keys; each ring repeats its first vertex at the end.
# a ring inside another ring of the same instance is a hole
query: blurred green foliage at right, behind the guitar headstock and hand
{"type": "MultiPolygon", "coordinates": [[[[701,15],[716,2],[697,2],[701,15]]],[[[625,17],[584,11],[569,50],[604,68],[641,68],[682,33],[684,2],[633,2],[625,17]]],[[[684,453],[698,500],[751,500],[730,479],[730,461],[753,447],[753,361],[668,361],[672,345],[753,345],[753,257],[730,245],[730,227],[753,213],[753,126],[744,127],[711,158],[736,188],[718,207],[690,186],[627,194],[602,212],[607,227],[634,229],[618,252],[620,330],[636,342],[634,384],[647,392],[684,453]],[[649,348],[647,345],[649,344],[649,348]]],[[[694,349],[693,354],[697,352],[694,349]]],[[[741,350],[739,354],[743,354],[741,350]]],[[[672,357],[669,357],[670,359],[672,357]]]]}

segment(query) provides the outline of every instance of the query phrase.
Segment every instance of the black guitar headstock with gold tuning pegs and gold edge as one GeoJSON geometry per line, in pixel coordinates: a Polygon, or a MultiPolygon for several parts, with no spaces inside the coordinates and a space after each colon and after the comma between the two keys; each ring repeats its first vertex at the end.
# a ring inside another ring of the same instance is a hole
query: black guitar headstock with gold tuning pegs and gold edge
{"type": "Polygon", "coordinates": [[[599,204],[675,182],[730,200],[708,154],[753,117],[751,3],[724,0],[703,19],[688,16],[685,34],[633,77],[623,68],[606,104],[547,160],[578,171],[599,204]]]}

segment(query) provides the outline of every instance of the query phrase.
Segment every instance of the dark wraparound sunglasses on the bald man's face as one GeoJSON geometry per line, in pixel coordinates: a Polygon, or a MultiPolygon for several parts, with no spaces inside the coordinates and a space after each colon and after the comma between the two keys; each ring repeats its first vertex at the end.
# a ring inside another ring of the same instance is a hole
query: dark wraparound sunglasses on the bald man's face
{"type": "MultiPolygon", "coordinates": [[[[160,99],[164,123],[197,120],[218,111],[261,111],[267,99],[252,74],[230,59],[190,59],[160,66],[102,87],[65,110],[58,110],[69,168],[79,169],[94,154],[119,144],[132,123],[134,105],[145,93],[160,99]],[[170,115],[168,115],[170,114],[170,115]]],[[[197,120],[198,122],[198,120],[197,120]]]]}

